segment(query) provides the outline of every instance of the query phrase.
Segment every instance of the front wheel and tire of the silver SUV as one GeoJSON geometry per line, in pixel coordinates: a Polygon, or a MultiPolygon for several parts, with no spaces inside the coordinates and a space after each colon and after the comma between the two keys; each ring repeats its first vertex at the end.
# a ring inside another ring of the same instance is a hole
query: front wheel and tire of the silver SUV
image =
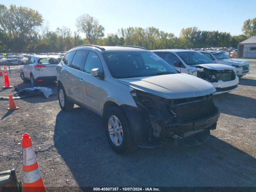
{"type": "Polygon", "coordinates": [[[124,111],[114,106],[107,110],[104,126],[108,143],[118,154],[129,154],[136,149],[130,123],[124,111]]]}

